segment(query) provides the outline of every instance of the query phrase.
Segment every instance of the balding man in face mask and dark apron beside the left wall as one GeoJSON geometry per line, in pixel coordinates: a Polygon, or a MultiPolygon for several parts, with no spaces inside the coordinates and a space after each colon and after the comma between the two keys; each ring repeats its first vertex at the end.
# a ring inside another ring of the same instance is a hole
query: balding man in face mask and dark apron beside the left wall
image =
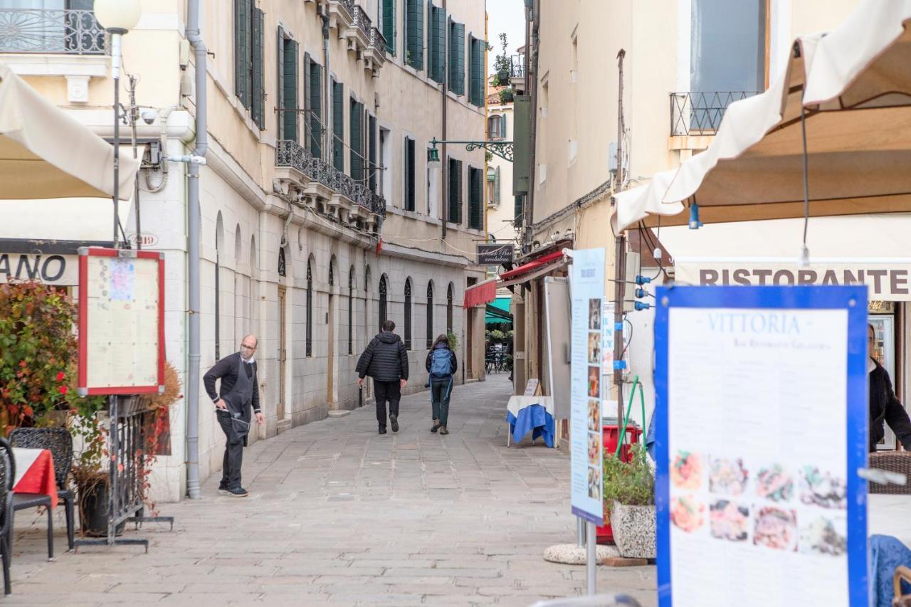
{"type": "Polygon", "coordinates": [[[225,457],[221,463],[219,493],[234,498],[246,498],[250,493],[241,487],[241,464],[243,448],[247,446],[250,434],[250,408],[256,416],[256,423],[262,424],[265,417],[260,409],[260,388],[256,380],[256,360],[253,355],[259,340],[256,335],[247,335],[241,340],[240,352],[225,356],[202,377],[206,392],[215,404],[221,430],[225,433],[225,457]],[[220,379],[219,391],[215,391],[215,380],[220,379]]]}

